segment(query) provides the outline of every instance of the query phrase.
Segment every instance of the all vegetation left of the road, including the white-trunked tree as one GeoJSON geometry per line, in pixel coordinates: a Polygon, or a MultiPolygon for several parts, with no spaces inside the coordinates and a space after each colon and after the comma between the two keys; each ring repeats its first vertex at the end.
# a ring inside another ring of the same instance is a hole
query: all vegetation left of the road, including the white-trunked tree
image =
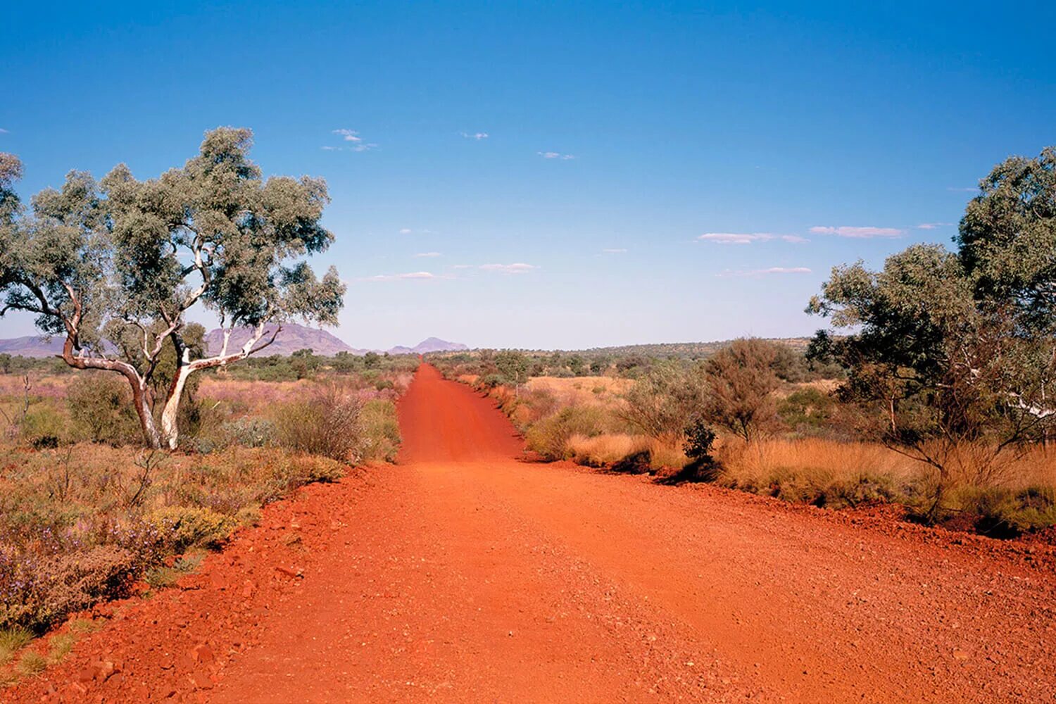
{"type": "Polygon", "coordinates": [[[62,344],[0,355],[0,681],[72,645],[16,657],[27,638],[178,579],[300,486],[395,458],[416,358],[263,356],[287,322],[335,324],[345,287],[308,263],[334,241],[325,182],[265,177],[251,146],[219,128],[156,178],[71,171],[25,201],[0,153],[0,317],[62,344]]]}

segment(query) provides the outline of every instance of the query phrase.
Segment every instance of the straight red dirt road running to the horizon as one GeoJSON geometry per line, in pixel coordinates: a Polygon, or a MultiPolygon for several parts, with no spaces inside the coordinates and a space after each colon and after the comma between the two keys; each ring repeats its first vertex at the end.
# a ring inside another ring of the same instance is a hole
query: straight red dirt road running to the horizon
{"type": "Polygon", "coordinates": [[[523,462],[428,365],[400,424],[397,467],[269,507],[0,699],[1056,701],[1049,548],[523,462]]]}

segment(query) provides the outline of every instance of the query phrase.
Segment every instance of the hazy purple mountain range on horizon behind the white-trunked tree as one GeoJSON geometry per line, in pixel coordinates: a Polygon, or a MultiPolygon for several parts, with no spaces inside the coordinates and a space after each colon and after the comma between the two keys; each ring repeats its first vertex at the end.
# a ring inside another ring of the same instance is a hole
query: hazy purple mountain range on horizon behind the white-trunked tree
{"type": "MultiPolygon", "coordinates": [[[[265,334],[262,340],[267,340],[270,338],[275,326],[269,325],[264,329],[265,334]]],[[[235,328],[231,334],[230,341],[227,343],[228,350],[234,351],[240,349],[242,345],[246,344],[249,334],[250,328],[248,327],[235,328]]],[[[45,341],[44,338],[34,335],[24,338],[0,340],[0,354],[6,353],[21,357],[54,357],[62,353],[63,340],[62,336],[55,336],[51,340],[45,341]]],[[[220,353],[220,348],[224,344],[224,331],[219,327],[210,330],[205,336],[205,343],[206,349],[210,354],[215,355],[220,353]]],[[[469,347],[458,342],[448,342],[439,338],[427,338],[413,347],[396,345],[388,350],[358,349],[345,344],[344,341],[326,330],[318,330],[314,327],[305,327],[296,323],[286,323],[282,326],[279,337],[266,349],[261,351],[261,355],[293,355],[298,349],[310,349],[320,357],[333,357],[339,351],[346,351],[350,355],[365,355],[369,351],[376,351],[378,354],[388,351],[390,355],[425,355],[432,351],[458,351],[469,349],[469,347]]]]}

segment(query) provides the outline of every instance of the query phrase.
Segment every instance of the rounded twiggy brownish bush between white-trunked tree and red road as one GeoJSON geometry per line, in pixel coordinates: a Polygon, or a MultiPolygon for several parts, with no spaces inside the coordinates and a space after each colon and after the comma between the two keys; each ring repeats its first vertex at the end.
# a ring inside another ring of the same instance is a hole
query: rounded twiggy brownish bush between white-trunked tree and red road
{"type": "Polygon", "coordinates": [[[337,384],[320,386],[308,401],[287,403],[276,414],[279,444],[289,450],[357,462],[362,404],[337,384]]]}

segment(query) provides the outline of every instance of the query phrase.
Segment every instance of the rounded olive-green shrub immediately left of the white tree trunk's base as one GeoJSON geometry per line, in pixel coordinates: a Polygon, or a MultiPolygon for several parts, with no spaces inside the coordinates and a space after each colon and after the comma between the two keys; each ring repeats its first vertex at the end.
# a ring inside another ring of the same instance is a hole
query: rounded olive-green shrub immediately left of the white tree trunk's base
{"type": "Polygon", "coordinates": [[[78,376],[67,387],[67,406],[78,439],[112,445],[135,442],[139,421],[128,382],[113,374],[78,376]]]}

